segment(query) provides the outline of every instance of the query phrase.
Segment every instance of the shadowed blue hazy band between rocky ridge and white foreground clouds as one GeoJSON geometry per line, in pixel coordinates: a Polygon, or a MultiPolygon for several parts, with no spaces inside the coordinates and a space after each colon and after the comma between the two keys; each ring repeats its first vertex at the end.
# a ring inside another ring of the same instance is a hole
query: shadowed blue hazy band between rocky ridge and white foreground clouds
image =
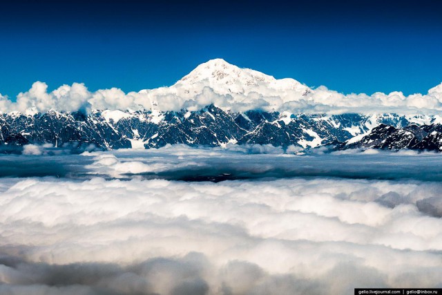
{"type": "Polygon", "coordinates": [[[166,145],[161,149],[74,151],[28,145],[22,155],[2,155],[0,177],[54,176],[73,180],[106,179],[222,181],[296,177],[442,182],[438,153],[368,149],[297,155],[288,146],[227,144],[221,147],[166,145]]]}

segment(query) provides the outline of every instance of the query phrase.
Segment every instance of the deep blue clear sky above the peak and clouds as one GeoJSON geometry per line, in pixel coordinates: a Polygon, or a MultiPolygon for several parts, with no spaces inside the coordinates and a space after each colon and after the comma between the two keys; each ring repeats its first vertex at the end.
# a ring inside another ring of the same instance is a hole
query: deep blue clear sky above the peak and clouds
{"type": "Polygon", "coordinates": [[[343,93],[442,82],[438,1],[286,2],[1,1],[0,93],[37,80],[139,91],[216,57],[343,93]]]}

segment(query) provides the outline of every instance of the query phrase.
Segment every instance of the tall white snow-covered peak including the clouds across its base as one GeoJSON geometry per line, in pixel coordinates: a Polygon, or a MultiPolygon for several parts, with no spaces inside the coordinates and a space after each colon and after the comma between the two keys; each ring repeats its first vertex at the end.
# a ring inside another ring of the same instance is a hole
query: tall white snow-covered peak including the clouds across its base
{"type": "Polygon", "coordinates": [[[182,106],[197,111],[209,104],[233,111],[276,111],[281,104],[313,92],[295,79],[275,79],[256,70],[238,68],[224,59],[200,64],[173,86],[140,91],[153,108],[162,111],[178,111],[182,106]]]}

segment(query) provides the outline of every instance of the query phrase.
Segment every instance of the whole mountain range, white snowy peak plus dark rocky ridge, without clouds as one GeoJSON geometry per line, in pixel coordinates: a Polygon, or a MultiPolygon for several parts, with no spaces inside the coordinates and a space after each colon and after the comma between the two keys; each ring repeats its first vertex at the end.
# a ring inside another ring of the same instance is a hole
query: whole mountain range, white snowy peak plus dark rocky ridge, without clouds
{"type": "Polygon", "coordinates": [[[266,97],[266,102],[271,102],[266,93],[285,93],[281,97],[287,97],[287,93],[309,96],[314,91],[294,79],[275,79],[213,59],[173,86],[140,91],[151,97],[148,110],[1,113],[0,147],[3,152],[17,151],[26,144],[77,149],[95,146],[104,150],[149,149],[166,144],[271,144],[283,148],[294,146],[296,151],[320,146],[333,150],[442,150],[442,119],[438,115],[330,115],[271,111],[268,104],[265,110],[241,111],[240,107],[249,103],[247,99],[266,97]],[[214,93],[219,104],[213,103],[217,102],[213,97],[207,99],[214,93]],[[168,95],[188,104],[180,110],[160,110],[157,106],[161,102],[155,97],[171,99],[168,95]]]}

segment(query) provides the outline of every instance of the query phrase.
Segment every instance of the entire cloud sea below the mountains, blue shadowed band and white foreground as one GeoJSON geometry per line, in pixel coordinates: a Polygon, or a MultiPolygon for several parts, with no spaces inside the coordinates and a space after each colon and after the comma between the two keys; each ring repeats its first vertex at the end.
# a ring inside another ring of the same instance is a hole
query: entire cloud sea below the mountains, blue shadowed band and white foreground
{"type": "Polygon", "coordinates": [[[0,294],[442,287],[441,162],[269,146],[6,155],[0,294]]]}

